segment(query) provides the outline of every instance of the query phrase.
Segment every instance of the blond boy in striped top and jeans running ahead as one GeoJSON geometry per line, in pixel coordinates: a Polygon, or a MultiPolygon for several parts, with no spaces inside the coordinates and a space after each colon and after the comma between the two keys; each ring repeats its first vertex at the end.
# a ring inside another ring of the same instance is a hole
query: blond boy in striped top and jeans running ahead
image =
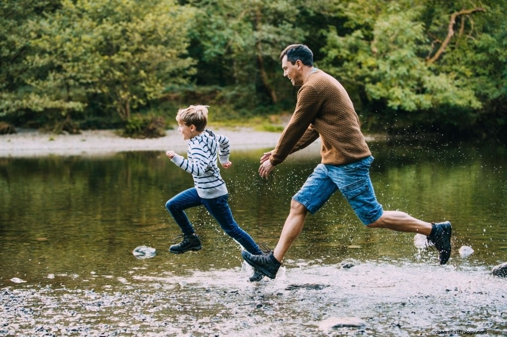
{"type": "MultiPolygon", "coordinates": [[[[178,193],[166,202],[165,207],[183,232],[183,241],[173,244],[169,250],[174,254],[182,254],[189,250],[202,248],[199,237],[184,210],[189,207],[204,205],[209,214],[215,218],[220,227],[251,254],[262,254],[261,248],[242,230],[234,220],[227,202],[229,197],[225,181],[220,176],[216,163],[217,155],[222,167],[229,168],[229,139],[205,130],[208,117],[208,106],[191,105],[179,109],[176,115],[178,131],[184,140],[189,140],[187,157],[167,151],[166,155],[173,163],[192,174],[194,187],[178,193]]],[[[260,281],[263,274],[253,270],[250,282],[260,281]]]]}

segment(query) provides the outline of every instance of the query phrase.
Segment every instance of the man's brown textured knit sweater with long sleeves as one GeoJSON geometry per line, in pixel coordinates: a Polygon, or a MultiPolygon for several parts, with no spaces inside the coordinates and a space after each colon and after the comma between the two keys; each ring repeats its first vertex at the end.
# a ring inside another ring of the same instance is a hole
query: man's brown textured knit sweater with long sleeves
{"type": "Polygon", "coordinates": [[[316,69],[298,91],[296,110],[271,153],[271,164],[319,136],[323,164],[346,164],[371,155],[347,92],[333,76],[316,69]]]}

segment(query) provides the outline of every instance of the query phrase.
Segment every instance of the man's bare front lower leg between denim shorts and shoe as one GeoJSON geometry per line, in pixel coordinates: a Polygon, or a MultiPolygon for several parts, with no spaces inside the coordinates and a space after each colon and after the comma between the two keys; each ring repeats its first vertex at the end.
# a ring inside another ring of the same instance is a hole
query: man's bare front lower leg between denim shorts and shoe
{"type": "Polygon", "coordinates": [[[288,248],[291,247],[294,240],[301,234],[307,213],[308,210],[303,204],[294,199],[291,200],[291,211],[285,220],[280,238],[273,250],[273,256],[278,262],[282,262],[288,248]]]}

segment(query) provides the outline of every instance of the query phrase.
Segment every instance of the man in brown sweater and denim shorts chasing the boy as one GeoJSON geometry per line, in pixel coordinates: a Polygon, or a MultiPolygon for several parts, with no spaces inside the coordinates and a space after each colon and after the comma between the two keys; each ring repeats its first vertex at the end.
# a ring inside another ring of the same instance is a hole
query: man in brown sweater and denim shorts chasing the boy
{"type": "Polygon", "coordinates": [[[359,128],[352,102],[331,75],[313,67],[313,53],[291,45],[280,54],[283,76],[300,86],[294,114],[275,149],[261,157],[259,174],[267,178],[289,154],[321,140],[322,161],[291,200],[291,210],[273,251],[261,255],[242,252],[243,259],[264,275],[275,278],[288,248],[303,229],[308,212],[314,214],[339,190],[355,214],[369,228],[388,228],[427,236],[439,250],[440,264],[451,255],[451,223],[427,223],[406,213],[382,209],[370,180],[373,157],[359,128]]]}

